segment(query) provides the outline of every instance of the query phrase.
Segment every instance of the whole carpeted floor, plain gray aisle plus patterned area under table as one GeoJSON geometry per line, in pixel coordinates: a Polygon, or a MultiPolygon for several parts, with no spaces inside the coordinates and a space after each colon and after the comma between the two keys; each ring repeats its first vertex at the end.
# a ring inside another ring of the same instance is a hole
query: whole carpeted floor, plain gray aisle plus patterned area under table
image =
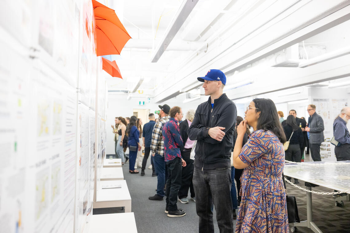
{"type": "MultiPolygon", "coordinates": [[[[309,161],[307,155],[305,161],[309,161]]],[[[148,161],[147,167],[150,162],[148,161]]],[[[163,201],[151,201],[148,196],[153,196],[157,184],[157,177],[152,177],[152,170],[146,169],[146,175],[130,174],[129,164],[123,167],[124,179],[127,182],[132,199],[132,212],[135,214],[135,221],[139,233],[198,233],[198,216],[196,214],[195,202],[188,204],[178,202],[178,207],[186,211],[186,216],[169,218],[165,211],[165,199],[163,201]]],[[[141,172],[141,169],[139,169],[141,172]]],[[[292,179],[293,180],[293,179],[292,179]]],[[[303,181],[300,186],[303,187],[303,181]]],[[[324,187],[313,188],[315,191],[330,192],[332,190],[324,187]]],[[[297,200],[300,220],[306,220],[306,193],[296,189],[287,183],[287,192],[294,195],[297,200]]],[[[344,201],[343,207],[334,205],[334,198],[331,195],[313,196],[313,218],[315,224],[324,233],[345,233],[350,232],[350,202],[344,201]]],[[[122,213],[121,208],[93,209],[93,214],[122,213]]],[[[235,221],[236,224],[236,221],[235,221]]],[[[215,232],[219,232],[215,218],[215,232]]],[[[298,232],[311,233],[305,227],[298,227],[298,232]]]]}

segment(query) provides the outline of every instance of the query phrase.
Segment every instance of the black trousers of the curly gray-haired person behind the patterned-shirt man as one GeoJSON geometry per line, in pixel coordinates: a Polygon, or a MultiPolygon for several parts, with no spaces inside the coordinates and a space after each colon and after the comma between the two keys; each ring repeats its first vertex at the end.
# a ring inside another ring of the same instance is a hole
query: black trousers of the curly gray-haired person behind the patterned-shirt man
{"type": "Polygon", "coordinates": [[[181,187],[179,189],[179,199],[185,198],[188,195],[188,189],[190,189],[191,197],[195,197],[195,191],[193,189],[193,159],[190,159],[191,149],[181,151],[181,156],[186,162],[186,167],[182,168],[181,175],[181,187]]]}

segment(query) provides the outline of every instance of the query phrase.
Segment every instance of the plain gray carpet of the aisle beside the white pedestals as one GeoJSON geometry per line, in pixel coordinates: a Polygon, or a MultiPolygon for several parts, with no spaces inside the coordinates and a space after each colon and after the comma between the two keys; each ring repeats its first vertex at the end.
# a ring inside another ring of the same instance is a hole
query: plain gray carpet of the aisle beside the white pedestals
{"type": "MultiPolygon", "coordinates": [[[[109,158],[107,156],[107,158],[109,158]]],[[[149,196],[156,194],[157,177],[152,177],[152,169],[147,169],[151,164],[149,158],[145,176],[129,173],[129,163],[123,166],[124,179],[131,195],[131,211],[134,212],[138,233],[198,233],[198,216],[194,201],[177,206],[186,212],[183,217],[169,218],[165,211],[165,198],[163,201],[151,201],[149,196]]],[[[138,169],[141,173],[141,169],[138,169]]],[[[93,209],[93,214],[123,213],[121,208],[93,209]]],[[[236,221],[235,221],[236,224],[236,221]]],[[[219,232],[215,218],[215,232],[219,232]]]]}

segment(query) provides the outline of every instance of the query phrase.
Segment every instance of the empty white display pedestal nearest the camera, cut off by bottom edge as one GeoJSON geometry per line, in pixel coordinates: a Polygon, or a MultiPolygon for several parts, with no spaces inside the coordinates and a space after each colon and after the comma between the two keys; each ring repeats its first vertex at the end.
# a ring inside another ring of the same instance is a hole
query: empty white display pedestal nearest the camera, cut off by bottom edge
{"type": "Polygon", "coordinates": [[[94,214],[89,233],[137,233],[134,213],[94,214]]]}

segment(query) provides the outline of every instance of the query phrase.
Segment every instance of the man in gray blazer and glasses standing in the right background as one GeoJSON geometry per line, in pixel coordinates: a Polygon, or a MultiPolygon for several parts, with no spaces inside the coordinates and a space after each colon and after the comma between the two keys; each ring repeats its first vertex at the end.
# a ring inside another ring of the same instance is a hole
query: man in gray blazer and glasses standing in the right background
{"type": "Polygon", "coordinates": [[[307,107],[307,112],[309,113],[308,126],[305,131],[310,132],[309,144],[311,157],[314,161],[321,161],[320,147],[321,143],[324,141],[323,136],[323,119],[320,115],[316,113],[316,106],[310,104],[307,107]]]}

